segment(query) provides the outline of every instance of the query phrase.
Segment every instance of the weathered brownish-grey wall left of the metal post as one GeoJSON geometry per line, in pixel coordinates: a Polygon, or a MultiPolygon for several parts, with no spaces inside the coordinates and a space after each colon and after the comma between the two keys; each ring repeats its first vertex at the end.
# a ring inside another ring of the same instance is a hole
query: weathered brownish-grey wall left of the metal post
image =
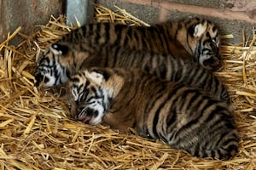
{"type": "MultiPolygon", "coordinates": [[[[6,39],[8,32],[19,26],[28,34],[34,26],[44,25],[51,14],[62,14],[61,0],[0,0],[0,42],[6,39]]],[[[15,37],[13,43],[19,40],[15,37]]]]}

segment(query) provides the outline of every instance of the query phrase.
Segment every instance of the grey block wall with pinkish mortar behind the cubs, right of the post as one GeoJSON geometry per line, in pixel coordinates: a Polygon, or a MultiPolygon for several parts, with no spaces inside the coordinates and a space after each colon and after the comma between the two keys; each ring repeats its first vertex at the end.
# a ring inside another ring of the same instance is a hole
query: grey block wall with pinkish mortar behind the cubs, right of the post
{"type": "Polygon", "coordinates": [[[153,24],[165,20],[178,20],[203,16],[218,25],[221,34],[233,34],[230,42],[241,42],[242,30],[252,37],[256,26],[255,0],[98,0],[97,3],[115,9],[125,8],[137,18],[153,24]],[[255,14],[254,14],[255,13],[255,14]]]}

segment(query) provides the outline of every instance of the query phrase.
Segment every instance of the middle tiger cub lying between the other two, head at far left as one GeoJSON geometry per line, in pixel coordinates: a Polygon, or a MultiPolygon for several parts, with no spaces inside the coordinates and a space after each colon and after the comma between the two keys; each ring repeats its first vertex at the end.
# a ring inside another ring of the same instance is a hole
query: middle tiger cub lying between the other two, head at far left
{"type": "Polygon", "coordinates": [[[202,88],[220,100],[230,102],[224,84],[200,65],[191,64],[172,55],[163,56],[152,52],[131,51],[129,48],[105,45],[92,47],[83,43],[84,51],[79,45],[53,44],[38,60],[35,72],[37,85],[54,87],[64,84],[77,71],[96,67],[140,68],[162,80],[183,82],[195,88],[202,88]]]}

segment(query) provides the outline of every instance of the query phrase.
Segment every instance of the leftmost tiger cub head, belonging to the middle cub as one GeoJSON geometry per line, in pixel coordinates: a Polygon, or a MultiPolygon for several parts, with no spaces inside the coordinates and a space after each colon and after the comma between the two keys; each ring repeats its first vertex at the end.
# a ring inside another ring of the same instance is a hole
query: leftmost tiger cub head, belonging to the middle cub
{"type": "Polygon", "coordinates": [[[89,56],[89,51],[79,52],[76,48],[78,47],[73,44],[58,42],[46,49],[39,56],[34,73],[36,86],[49,88],[65,84],[89,56]]]}

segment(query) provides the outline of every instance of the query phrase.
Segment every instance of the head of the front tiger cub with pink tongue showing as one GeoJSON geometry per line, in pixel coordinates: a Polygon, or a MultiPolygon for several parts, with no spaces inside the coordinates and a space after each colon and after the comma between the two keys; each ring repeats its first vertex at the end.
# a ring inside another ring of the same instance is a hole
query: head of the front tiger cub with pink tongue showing
{"type": "Polygon", "coordinates": [[[108,110],[111,99],[122,87],[122,79],[108,69],[91,68],[74,74],[67,83],[67,103],[71,116],[96,125],[108,110]]]}

